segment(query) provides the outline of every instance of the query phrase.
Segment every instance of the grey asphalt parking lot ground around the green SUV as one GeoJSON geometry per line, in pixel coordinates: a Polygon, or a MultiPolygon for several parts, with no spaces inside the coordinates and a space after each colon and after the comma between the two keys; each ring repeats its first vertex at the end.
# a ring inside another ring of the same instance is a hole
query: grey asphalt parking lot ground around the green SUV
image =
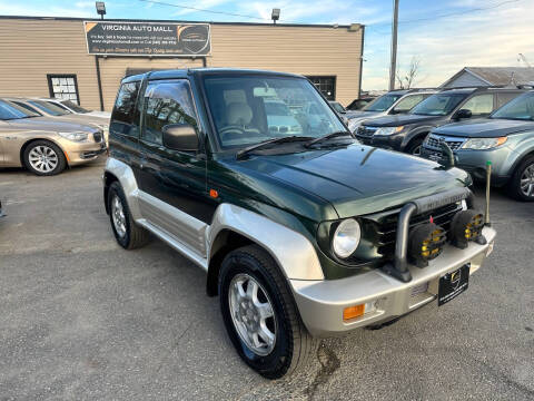
{"type": "Polygon", "coordinates": [[[268,381],[201,270],[158,239],[116,244],[102,166],[0,172],[0,400],[534,399],[533,204],[493,192],[495,251],[466,293],[324,340],[306,372],[268,381]]]}

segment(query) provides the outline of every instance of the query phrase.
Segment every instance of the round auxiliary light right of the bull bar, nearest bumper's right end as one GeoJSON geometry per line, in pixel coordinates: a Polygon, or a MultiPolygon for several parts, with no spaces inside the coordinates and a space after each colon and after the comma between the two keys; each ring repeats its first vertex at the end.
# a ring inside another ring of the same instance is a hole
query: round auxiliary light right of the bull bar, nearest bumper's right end
{"type": "Polygon", "coordinates": [[[479,212],[468,209],[456,213],[451,222],[452,244],[465,250],[469,241],[484,245],[486,238],[482,235],[484,227],[484,215],[479,212]]]}

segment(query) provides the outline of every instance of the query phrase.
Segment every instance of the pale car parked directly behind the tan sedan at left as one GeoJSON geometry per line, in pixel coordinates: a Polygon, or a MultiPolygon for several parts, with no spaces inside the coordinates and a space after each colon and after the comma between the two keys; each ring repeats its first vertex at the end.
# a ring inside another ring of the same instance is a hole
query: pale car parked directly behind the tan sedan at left
{"type": "Polygon", "coordinates": [[[108,138],[109,118],[90,116],[85,114],[75,114],[57,106],[48,100],[26,99],[26,98],[6,98],[7,100],[24,107],[30,111],[37,113],[41,116],[53,117],[63,121],[72,121],[82,125],[93,125],[103,131],[105,138],[108,138]]]}

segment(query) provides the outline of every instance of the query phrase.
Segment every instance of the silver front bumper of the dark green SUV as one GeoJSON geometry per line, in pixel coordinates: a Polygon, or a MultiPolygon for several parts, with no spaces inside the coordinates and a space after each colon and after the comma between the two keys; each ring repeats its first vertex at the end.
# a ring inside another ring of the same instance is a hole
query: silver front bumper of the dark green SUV
{"type": "Polygon", "coordinates": [[[485,245],[472,242],[465,250],[447,245],[427,267],[409,265],[412,281],[408,283],[379,270],[340,280],[289,280],[303,322],[313,335],[332,336],[409,313],[437,297],[441,276],[465,264],[471,264],[469,274],[482,266],[493,250],[495,231],[484,227],[483,234],[487,239],[485,245]],[[428,288],[425,292],[414,291],[426,283],[428,288]],[[374,303],[375,309],[344,322],[345,307],[366,303],[374,303]]]}

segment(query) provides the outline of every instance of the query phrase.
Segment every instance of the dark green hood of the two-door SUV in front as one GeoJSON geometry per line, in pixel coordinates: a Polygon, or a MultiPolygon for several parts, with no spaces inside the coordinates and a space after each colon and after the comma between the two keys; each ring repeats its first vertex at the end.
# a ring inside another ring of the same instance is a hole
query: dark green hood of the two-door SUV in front
{"type": "Polygon", "coordinates": [[[241,173],[269,176],[326,199],[339,217],[375,213],[471,183],[461,169],[359,144],[233,163],[241,173]]]}

